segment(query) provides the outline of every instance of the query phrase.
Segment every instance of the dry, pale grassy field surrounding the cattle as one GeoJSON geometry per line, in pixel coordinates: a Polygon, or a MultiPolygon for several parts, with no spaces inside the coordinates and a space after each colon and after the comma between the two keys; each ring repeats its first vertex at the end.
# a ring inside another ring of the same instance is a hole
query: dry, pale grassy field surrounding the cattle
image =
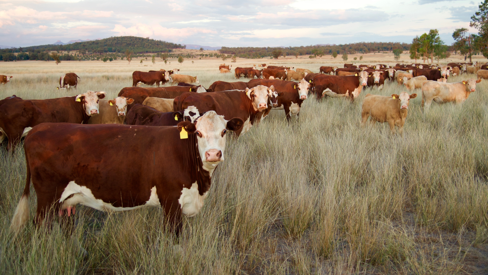
{"type": "MultiPolygon", "coordinates": [[[[132,84],[134,70],[158,68],[180,68],[205,87],[235,81],[218,73],[222,61],[194,61],[1,62],[0,74],[14,78],[0,85],[0,98],[55,98],[88,89],[114,98],[132,84]],[[66,72],[81,77],[77,90],[56,89],[66,72]]],[[[238,59],[233,67],[266,61],[238,59]]],[[[321,65],[273,63],[314,72],[321,65]]],[[[86,207],[77,208],[72,235],[29,223],[12,240],[8,227],[25,185],[25,159],[22,148],[10,156],[3,145],[0,273],[487,274],[487,88],[482,81],[463,105],[433,103],[425,114],[416,90],[403,135],[390,134],[387,124],[360,125],[366,93],[405,90],[396,84],[363,90],[352,104],[307,99],[300,119],[289,123],[283,110],[272,111],[239,139],[227,139],[205,205],[183,219],[179,240],[164,230],[157,209],[112,214],[86,207]],[[86,257],[78,254],[78,242],[86,257]]]]}

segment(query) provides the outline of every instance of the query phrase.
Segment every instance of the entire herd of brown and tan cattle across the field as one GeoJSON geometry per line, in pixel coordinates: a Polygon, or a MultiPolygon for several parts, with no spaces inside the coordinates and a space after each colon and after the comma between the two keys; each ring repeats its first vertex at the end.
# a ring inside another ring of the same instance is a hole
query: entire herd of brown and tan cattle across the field
{"type": "MultiPolygon", "coordinates": [[[[345,97],[352,102],[364,87],[381,89],[385,81],[409,91],[420,88],[425,109],[432,101],[461,103],[488,77],[486,66],[344,64],[321,66],[313,73],[259,64],[263,68],[234,69],[235,78],[249,78],[247,82],[216,81],[208,88],[194,85],[198,77],[182,75],[179,69],[135,71],[133,85],[111,100],[104,100],[103,91],[44,100],[7,97],[0,101],[0,142],[7,138],[7,150],[13,150],[24,138],[27,166],[11,230],[19,232],[29,218],[32,180],[38,198],[36,224],[53,213],[70,217],[77,204],[110,212],[153,206],[164,210],[178,234],[181,216],[194,216],[203,207],[212,173],[224,161],[227,131],[244,134],[271,109],[284,109],[287,120],[298,117],[311,94],[318,101],[345,97]],[[450,73],[469,72],[478,78],[447,83],[450,73]],[[171,85],[160,87],[166,83],[171,85]]],[[[231,69],[219,67],[221,73],[231,69]]],[[[0,75],[2,84],[10,78],[0,75]]],[[[59,88],[76,88],[78,79],[66,73],[59,88]]],[[[415,97],[407,92],[367,94],[362,123],[371,117],[372,123],[387,122],[392,132],[395,126],[401,131],[409,100],[415,97]]]]}

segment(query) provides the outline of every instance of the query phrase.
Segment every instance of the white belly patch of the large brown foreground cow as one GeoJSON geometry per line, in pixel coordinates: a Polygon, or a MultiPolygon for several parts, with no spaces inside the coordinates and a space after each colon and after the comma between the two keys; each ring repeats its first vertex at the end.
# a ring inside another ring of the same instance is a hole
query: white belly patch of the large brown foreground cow
{"type": "Polygon", "coordinates": [[[96,210],[105,211],[105,212],[121,212],[127,210],[138,209],[142,207],[148,206],[156,206],[159,208],[161,204],[159,202],[158,195],[156,193],[156,186],[151,188],[151,194],[149,196],[149,200],[147,200],[143,205],[135,206],[135,207],[114,207],[110,203],[106,203],[101,199],[95,198],[92,191],[88,189],[86,186],[80,186],[76,184],[74,181],[70,181],[64,191],[61,194],[61,198],[59,201],[61,205],[61,209],[64,210],[68,207],[73,207],[77,204],[82,204],[96,210]],[[67,197],[73,195],[69,199],[67,197]]]}

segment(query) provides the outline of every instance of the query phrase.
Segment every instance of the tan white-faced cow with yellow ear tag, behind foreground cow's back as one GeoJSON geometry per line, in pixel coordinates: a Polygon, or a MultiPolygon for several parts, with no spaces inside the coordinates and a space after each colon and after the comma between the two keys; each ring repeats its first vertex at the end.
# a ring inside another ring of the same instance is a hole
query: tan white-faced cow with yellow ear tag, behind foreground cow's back
{"type": "Polygon", "coordinates": [[[87,124],[123,124],[127,105],[134,102],[132,98],[118,97],[113,100],[100,100],[98,102],[99,114],[88,119],[87,124]]]}

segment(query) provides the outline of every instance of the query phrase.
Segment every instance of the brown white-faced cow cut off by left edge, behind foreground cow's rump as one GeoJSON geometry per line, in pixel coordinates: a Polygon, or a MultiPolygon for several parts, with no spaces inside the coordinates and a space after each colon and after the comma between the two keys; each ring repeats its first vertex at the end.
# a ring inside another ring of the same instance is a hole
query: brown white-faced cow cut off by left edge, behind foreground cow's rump
{"type": "Polygon", "coordinates": [[[105,92],[87,91],[71,97],[42,100],[7,100],[0,106],[0,131],[8,138],[10,150],[34,126],[44,122],[88,122],[99,114],[98,101],[105,92]]]}

